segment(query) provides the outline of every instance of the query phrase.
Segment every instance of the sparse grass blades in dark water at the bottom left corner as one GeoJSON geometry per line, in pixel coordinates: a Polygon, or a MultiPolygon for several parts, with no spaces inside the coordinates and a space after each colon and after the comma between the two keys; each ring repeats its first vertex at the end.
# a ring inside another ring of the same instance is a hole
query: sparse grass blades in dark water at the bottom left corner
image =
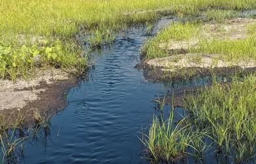
{"type": "Polygon", "coordinates": [[[8,115],[0,115],[0,163],[17,163],[20,157],[23,157],[24,144],[33,134],[34,141],[40,141],[46,144],[50,136],[50,117],[41,115],[39,111],[34,112],[34,120],[36,122],[34,128],[24,128],[26,113],[11,113],[8,115]],[[42,136],[42,132],[44,135],[42,136]]]}

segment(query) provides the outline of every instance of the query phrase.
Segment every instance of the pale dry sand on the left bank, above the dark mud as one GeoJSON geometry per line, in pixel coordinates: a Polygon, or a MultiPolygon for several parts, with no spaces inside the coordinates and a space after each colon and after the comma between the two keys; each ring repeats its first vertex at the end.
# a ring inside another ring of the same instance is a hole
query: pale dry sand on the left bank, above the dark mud
{"type": "Polygon", "coordinates": [[[57,80],[67,80],[68,74],[61,70],[44,70],[38,72],[32,80],[0,80],[0,110],[21,109],[27,103],[40,99],[38,94],[46,92],[48,88],[40,88],[42,82],[53,84],[57,80]],[[30,90],[24,90],[30,88],[30,90]]]}

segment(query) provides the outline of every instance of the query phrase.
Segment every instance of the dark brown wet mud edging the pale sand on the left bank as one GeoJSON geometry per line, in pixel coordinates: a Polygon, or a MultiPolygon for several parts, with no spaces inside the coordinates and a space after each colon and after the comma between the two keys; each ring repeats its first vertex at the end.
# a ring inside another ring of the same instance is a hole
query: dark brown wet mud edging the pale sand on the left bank
{"type": "MultiPolygon", "coordinates": [[[[37,94],[39,99],[34,101],[28,101],[21,109],[8,109],[0,111],[6,117],[9,117],[10,123],[14,123],[17,119],[18,113],[24,115],[24,127],[31,128],[34,126],[34,111],[38,110],[40,114],[46,118],[52,118],[58,111],[62,111],[67,105],[65,100],[65,94],[70,87],[77,85],[76,78],[70,78],[69,80],[54,81],[52,84],[46,82],[40,82],[39,86],[35,86],[34,89],[46,89],[45,92],[37,94]]],[[[22,90],[32,90],[32,88],[23,88],[22,90]]],[[[21,90],[17,90],[21,91],[21,90]]]]}

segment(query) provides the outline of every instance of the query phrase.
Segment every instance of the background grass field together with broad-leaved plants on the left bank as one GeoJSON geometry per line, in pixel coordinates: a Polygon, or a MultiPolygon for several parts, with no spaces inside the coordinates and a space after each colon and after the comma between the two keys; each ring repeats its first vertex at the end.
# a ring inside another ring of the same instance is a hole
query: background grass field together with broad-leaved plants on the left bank
{"type": "MultiPolygon", "coordinates": [[[[99,34],[88,40],[91,45],[98,46],[103,42],[113,41],[114,31],[131,24],[155,20],[161,14],[194,15],[198,14],[200,9],[214,7],[231,10],[254,9],[256,2],[254,0],[0,0],[0,78],[15,80],[17,76],[28,76],[26,72],[38,65],[50,67],[57,65],[65,70],[78,68],[77,72],[82,72],[88,66],[88,61],[81,59],[84,56],[81,55],[81,47],[74,45],[75,34],[80,32],[99,34]],[[102,41],[103,38],[107,38],[107,41],[102,41]],[[42,40],[48,40],[49,43],[46,45],[42,40]],[[56,42],[60,45],[58,49],[61,47],[61,51],[54,48],[56,42]],[[22,46],[26,46],[29,52],[24,52],[22,46]],[[16,54],[20,51],[22,53],[16,54]],[[40,53],[36,54],[38,51],[40,53]],[[35,57],[40,57],[38,65],[32,62],[35,57]]],[[[212,14],[208,13],[208,15],[212,14]]]]}

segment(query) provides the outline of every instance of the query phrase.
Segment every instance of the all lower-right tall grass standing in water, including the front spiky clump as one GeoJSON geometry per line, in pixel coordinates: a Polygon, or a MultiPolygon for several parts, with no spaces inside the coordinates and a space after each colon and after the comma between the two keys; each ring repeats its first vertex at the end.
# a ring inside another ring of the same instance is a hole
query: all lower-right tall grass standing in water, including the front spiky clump
{"type": "Polygon", "coordinates": [[[173,110],[167,121],[154,116],[149,135],[142,138],[147,157],[163,162],[185,153],[203,159],[212,152],[224,161],[246,163],[255,156],[255,74],[234,76],[225,84],[213,80],[212,86],[198,89],[184,101],[186,115],[177,124],[173,110]]]}

